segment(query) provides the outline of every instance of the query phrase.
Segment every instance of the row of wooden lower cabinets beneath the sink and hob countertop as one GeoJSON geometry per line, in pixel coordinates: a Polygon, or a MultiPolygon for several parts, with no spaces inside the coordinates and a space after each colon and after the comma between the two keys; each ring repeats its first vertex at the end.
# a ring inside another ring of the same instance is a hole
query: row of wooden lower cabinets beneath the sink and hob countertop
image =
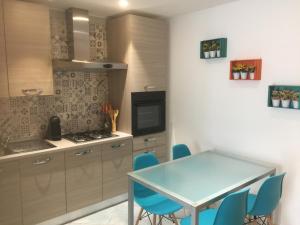
{"type": "Polygon", "coordinates": [[[132,138],[0,162],[0,225],[34,225],[128,191],[132,138]]]}

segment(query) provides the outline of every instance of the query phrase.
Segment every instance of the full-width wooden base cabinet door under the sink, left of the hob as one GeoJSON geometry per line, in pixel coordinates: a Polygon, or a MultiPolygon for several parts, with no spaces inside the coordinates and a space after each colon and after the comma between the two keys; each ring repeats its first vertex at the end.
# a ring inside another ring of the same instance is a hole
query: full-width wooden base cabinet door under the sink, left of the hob
{"type": "Polygon", "coordinates": [[[64,153],[23,159],[23,224],[32,225],[66,213],[64,153]]]}

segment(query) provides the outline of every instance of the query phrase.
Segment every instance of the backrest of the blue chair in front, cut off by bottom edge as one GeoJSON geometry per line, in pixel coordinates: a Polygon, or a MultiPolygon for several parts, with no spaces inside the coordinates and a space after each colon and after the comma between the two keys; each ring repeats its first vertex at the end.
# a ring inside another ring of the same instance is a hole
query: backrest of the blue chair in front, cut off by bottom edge
{"type": "Polygon", "coordinates": [[[227,196],[218,209],[214,225],[243,225],[248,193],[249,190],[244,190],[227,196]]]}

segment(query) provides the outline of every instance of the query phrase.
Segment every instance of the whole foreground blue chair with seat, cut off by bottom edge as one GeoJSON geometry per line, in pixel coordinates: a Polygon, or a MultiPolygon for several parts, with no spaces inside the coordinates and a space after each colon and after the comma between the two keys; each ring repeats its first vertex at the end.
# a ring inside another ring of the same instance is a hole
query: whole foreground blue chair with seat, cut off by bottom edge
{"type": "MultiPolygon", "coordinates": [[[[218,209],[207,209],[199,213],[199,225],[243,225],[247,214],[249,190],[228,195],[218,209]]],[[[181,220],[181,225],[190,225],[191,217],[181,220]]]]}

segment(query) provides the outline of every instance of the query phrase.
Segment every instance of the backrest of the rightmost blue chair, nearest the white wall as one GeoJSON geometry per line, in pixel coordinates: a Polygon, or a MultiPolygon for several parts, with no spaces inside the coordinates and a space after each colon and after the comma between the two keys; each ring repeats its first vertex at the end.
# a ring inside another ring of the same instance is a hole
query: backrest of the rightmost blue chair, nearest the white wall
{"type": "Polygon", "coordinates": [[[260,187],[251,215],[271,215],[276,209],[282,195],[282,184],[285,173],[269,177],[260,187]]]}

